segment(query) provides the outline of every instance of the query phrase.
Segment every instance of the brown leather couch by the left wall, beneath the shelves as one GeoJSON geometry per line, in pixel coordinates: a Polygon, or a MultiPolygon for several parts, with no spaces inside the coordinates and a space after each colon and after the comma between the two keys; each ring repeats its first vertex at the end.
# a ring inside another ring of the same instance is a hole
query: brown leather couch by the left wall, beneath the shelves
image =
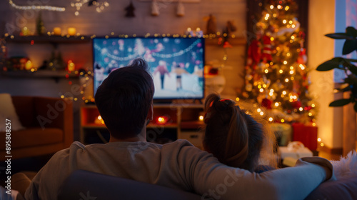
{"type": "MultiPolygon", "coordinates": [[[[11,130],[11,159],[54,154],[71,145],[71,101],[39,96],[11,96],[11,100],[24,126],[24,129],[11,130]]],[[[0,144],[5,144],[5,132],[0,135],[0,144]]],[[[0,145],[0,161],[6,159],[5,155],[5,145],[0,145]]]]}

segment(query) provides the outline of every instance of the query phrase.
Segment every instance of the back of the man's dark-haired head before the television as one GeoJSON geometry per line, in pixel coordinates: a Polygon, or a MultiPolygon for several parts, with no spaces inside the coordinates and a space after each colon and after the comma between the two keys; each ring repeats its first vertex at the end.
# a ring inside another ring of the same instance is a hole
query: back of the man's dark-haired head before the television
{"type": "Polygon", "coordinates": [[[144,59],[114,71],[96,91],[96,106],[116,139],[137,136],[148,115],[154,96],[154,81],[144,59]]]}

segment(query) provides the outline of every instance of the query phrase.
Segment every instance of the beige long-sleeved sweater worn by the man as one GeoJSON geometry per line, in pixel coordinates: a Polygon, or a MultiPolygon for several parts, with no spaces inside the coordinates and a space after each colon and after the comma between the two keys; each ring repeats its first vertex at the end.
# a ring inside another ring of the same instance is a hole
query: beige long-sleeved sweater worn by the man
{"type": "Polygon", "coordinates": [[[181,139],[164,145],[113,142],[84,146],[76,141],[39,171],[25,198],[56,199],[66,177],[84,169],[193,191],[202,199],[304,199],[326,179],[326,171],[311,162],[328,166],[333,173],[330,162],[318,157],[299,160],[291,168],[251,173],[221,164],[212,154],[181,139]]]}

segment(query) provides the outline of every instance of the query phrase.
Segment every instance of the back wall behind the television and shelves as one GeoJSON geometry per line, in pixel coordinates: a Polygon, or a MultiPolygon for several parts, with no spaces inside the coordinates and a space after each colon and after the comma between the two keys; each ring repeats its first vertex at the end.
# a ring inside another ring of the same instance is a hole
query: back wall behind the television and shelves
{"type": "MultiPolygon", "coordinates": [[[[144,36],[147,33],[154,34],[183,34],[191,27],[201,27],[206,29],[206,21],[203,20],[209,14],[216,16],[217,31],[222,31],[226,26],[226,21],[232,20],[237,27],[234,33],[237,37],[242,37],[246,29],[246,1],[245,0],[201,0],[199,3],[183,3],[185,16],[176,16],[177,3],[159,3],[159,16],[151,16],[151,2],[134,0],[136,7],[134,18],[126,18],[124,15],[128,1],[109,1],[110,6],[103,12],[97,13],[93,6],[82,6],[79,16],[75,16],[75,9],[70,6],[71,1],[37,0],[37,1],[15,1],[17,4],[26,2],[37,2],[36,5],[65,6],[66,11],[42,11],[44,26],[48,31],[54,27],[60,27],[64,34],[69,27],[75,27],[81,35],[96,36],[119,34],[136,34],[144,36]]],[[[14,9],[9,5],[9,1],[0,1],[0,34],[9,33],[14,36],[19,35],[19,31],[27,26],[35,32],[36,17],[38,11],[23,11],[14,9]]],[[[41,65],[42,61],[49,59],[54,46],[51,44],[7,44],[8,56],[29,56],[35,66],[41,65]]],[[[61,51],[64,61],[73,60],[77,69],[92,69],[91,43],[88,44],[61,44],[56,51],[61,51]]],[[[206,46],[206,61],[217,60],[223,64],[223,47],[218,44],[206,46]]],[[[223,96],[234,98],[236,88],[243,84],[240,74],[243,73],[245,44],[234,44],[232,49],[226,49],[228,60],[221,70],[221,74],[226,77],[226,87],[223,96]]],[[[79,84],[75,80],[74,84],[79,84]]],[[[54,96],[59,97],[59,93],[70,91],[71,86],[68,80],[61,79],[56,83],[53,79],[12,79],[0,76],[0,92],[7,92],[12,95],[29,96],[54,96]]],[[[91,89],[89,89],[91,93],[91,89]]],[[[74,106],[75,119],[79,119],[79,102],[74,106]]],[[[78,121],[75,121],[75,125],[78,121]]],[[[78,124],[78,123],[77,123],[78,124]]],[[[78,126],[78,125],[77,125],[78,126]]],[[[78,139],[78,128],[75,126],[75,139],[78,139]]]]}

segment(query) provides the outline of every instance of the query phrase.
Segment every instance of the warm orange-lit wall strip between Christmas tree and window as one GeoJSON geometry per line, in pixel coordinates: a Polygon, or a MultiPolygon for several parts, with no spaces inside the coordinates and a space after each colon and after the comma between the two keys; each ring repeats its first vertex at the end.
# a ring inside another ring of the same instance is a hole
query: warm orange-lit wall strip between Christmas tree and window
{"type": "Polygon", "coordinates": [[[341,139],[334,138],[335,109],[328,107],[333,101],[333,71],[316,71],[316,67],[333,57],[334,42],[325,34],[335,30],[335,1],[316,0],[309,2],[308,25],[308,66],[311,68],[311,92],[319,104],[316,124],[318,137],[323,144],[332,147],[341,147],[341,139]]]}

